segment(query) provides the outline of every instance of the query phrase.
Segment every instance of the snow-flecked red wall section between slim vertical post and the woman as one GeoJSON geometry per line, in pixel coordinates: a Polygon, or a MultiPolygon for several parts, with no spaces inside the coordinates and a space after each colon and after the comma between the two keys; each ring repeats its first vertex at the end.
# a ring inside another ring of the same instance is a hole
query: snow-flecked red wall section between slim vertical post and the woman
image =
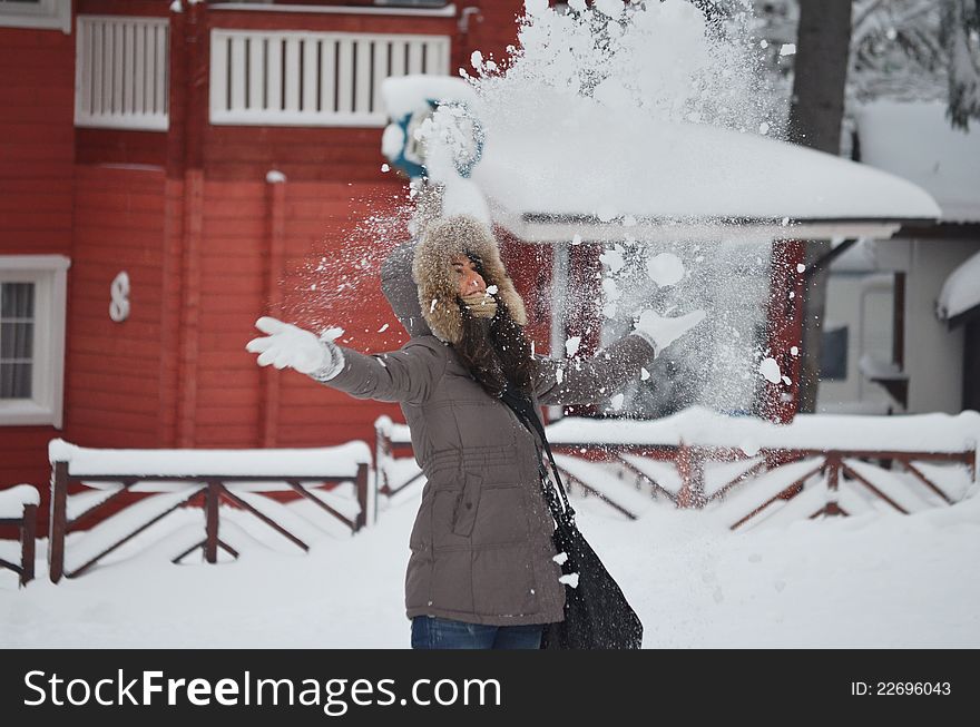
{"type": "MultiPolygon", "coordinates": [[[[408,238],[404,188],[393,175],[389,179],[384,186],[297,183],[286,189],[283,310],[313,330],[344,328],[341,341],[362,353],[394,351],[408,340],[381,293],[381,262],[408,238]]],[[[281,443],[295,446],[373,442],[379,415],[402,421],[395,404],[359,401],[329,387],[311,393],[300,376],[282,380],[281,407],[281,443]]]]}

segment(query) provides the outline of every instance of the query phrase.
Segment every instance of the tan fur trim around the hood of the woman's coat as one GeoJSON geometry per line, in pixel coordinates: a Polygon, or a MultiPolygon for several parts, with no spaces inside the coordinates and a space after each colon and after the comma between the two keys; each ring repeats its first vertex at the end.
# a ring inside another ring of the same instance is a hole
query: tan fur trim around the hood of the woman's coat
{"type": "Polygon", "coordinates": [[[457,301],[459,283],[450,263],[455,255],[479,258],[487,287],[496,285],[496,297],[510,311],[513,322],[527,325],[525,302],[503,267],[492,233],[483,223],[457,215],[425,228],[412,261],[422,317],[439,340],[455,344],[463,337],[463,316],[457,301]]]}

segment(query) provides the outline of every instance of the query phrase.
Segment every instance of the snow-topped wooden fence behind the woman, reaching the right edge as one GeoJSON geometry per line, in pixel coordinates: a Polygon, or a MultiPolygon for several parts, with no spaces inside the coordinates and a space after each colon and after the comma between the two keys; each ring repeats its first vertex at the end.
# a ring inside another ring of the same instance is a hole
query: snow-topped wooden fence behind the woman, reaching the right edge
{"type": "MultiPolygon", "coordinates": [[[[901,513],[912,511],[919,503],[919,494],[903,497],[908,490],[895,481],[894,472],[908,477],[908,482],[925,500],[937,504],[952,504],[961,491],[949,491],[939,481],[939,472],[928,472],[928,464],[959,465],[963,482],[976,481],[976,436],[969,435],[977,425],[977,415],[961,414],[959,419],[934,420],[937,415],[923,415],[922,420],[900,417],[863,417],[862,425],[880,428],[891,434],[896,425],[922,423],[929,436],[917,440],[921,450],[902,450],[898,446],[873,449],[860,446],[866,442],[884,442],[885,436],[857,436],[855,446],[722,446],[717,444],[690,444],[679,441],[678,431],[694,431],[706,439],[735,439],[752,436],[763,440],[785,438],[791,442],[807,439],[827,439],[825,432],[814,431],[815,420],[801,419],[801,425],[774,428],[766,422],[727,421],[706,412],[687,412],[674,422],[630,422],[590,420],[575,422],[562,420],[549,426],[549,441],[556,453],[556,462],[566,483],[586,495],[595,495],[610,508],[629,519],[636,519],[648,507],[649,498],[666,499],[677,508],[704,509],[713,503],[725,502],[724,517],[731,529],[742,528],[762,514],[768,515],[778,505],[794,501],[796,514],[816,518],[823,514],[852,514],[851,505],[842,495],[841,485],[853,484],[869,493],[871,499],[901,513]],[[929,420],[929,421],[925,421],[929,420]],[[675,424],[676,423],[676,424],[675,424]],[[937,425],[939,423],[939,425],[937,425]],[[666,424],[666,425],[664,425],[666,424]],[[658,428],[647,429],[644,428],[658,428]],[[574,434],[585,433],[577,439],[574,434]],[[648,434],[646,432],[649,432],[648,434]],[[568,434],[572,435],[569,436],[568,434]],[[958,440],[955,438],[959,438],[958,440]],[[669,440],[674,440],[670,442],[669,440]],[[948,440],[962,441],[961,449],[950,446],[948,440]],[[606,469],[602,469],[606,468],[606,469]],[[706,477],[712,468],[710,478],[706,477]],[[614,473],[615,471],[615,473],[614,473]],[[719,477],[721,475],[721,477],[719,477]],[[647,497],[638,500],[630,488],[617,480],[631,479],[634,490],[643,490],[647,497]],[[710,487],[707,480],[712,479],[710,487]],[[816,480],[821,480],[816,482],[816,480]],[[819,492],[823,487],[823,492],[819,492]],[[806,490],[806,497],[798,497],[806,490]],[[808,510],[805,510],[810,508],[808,510]]],[[[939,415],[942,416],[942,415],[939,415]]],[[[842,417],[823,417],[817,424],[839,424],[842,431],[853,426],[854,421],[842,417]]],[[[817,428],[819,429],[819,428],[817,428]]],[[[824,428],[825,429],[825,428],[824,428]]],[[[378,491],[395,494],[422,479],[418,465],[399,453],[411,453],[408,428],[393,424],[386,416],[375,423],[378,462],[378,491]]],[[[980,429],[978,429],[980,431],[980,429]]],[[[859,505],[853,498],[849,500],[859,505]]]]}

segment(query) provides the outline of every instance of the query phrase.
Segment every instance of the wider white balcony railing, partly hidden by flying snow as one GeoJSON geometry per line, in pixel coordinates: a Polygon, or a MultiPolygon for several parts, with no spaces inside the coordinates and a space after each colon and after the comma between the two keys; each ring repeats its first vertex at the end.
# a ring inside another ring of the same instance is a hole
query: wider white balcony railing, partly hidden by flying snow
{"type": "Polygon", "coordinates": [[[210,122],[384,126],[381,82],[449,72],[445,36],[212,30],[210,122]]]}

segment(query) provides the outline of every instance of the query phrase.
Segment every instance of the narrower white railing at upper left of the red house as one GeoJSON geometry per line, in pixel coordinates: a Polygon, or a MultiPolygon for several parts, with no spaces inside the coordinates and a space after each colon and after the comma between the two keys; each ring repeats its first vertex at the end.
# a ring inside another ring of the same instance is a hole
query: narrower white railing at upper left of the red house
{"type": "Polygon", "coordinates": [[[168,66],[166,18],[79,16],[75,125],[166,130],[168,66]]]}

